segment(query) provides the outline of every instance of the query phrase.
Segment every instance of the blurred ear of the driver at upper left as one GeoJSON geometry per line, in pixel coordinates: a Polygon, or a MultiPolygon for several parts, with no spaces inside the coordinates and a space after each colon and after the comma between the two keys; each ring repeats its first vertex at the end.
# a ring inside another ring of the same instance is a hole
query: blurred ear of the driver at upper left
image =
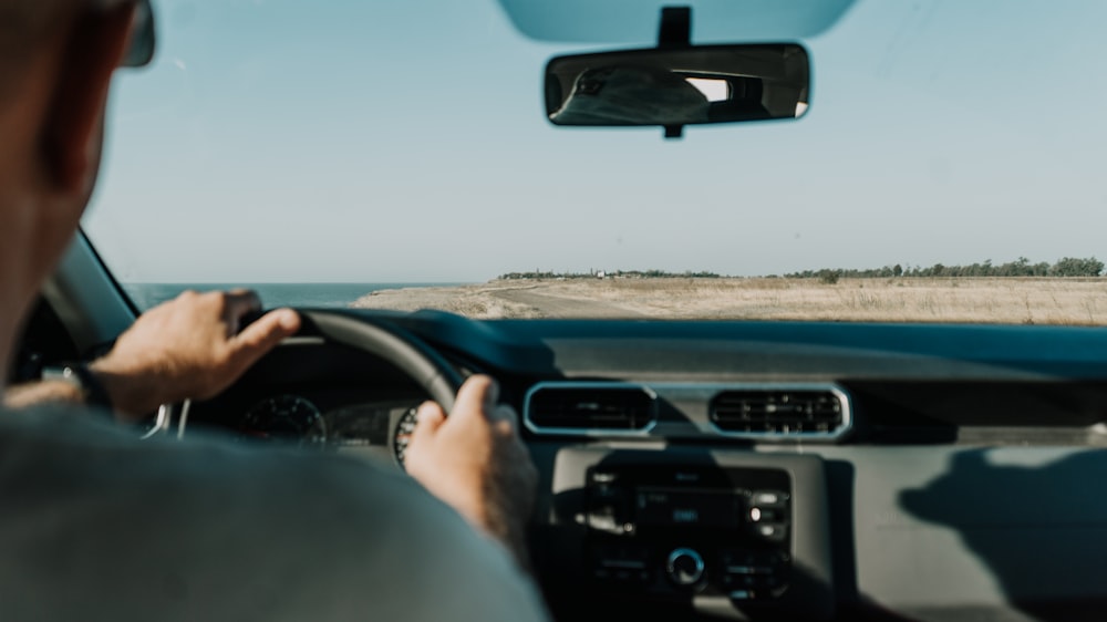
{"type": "Polygon", "coordinates": [[[126,52],[134,12],[128,2],[87,11],[70,32],[42,137],[59,191],[86,191],[95,179],[107,91],[126,52]]]}

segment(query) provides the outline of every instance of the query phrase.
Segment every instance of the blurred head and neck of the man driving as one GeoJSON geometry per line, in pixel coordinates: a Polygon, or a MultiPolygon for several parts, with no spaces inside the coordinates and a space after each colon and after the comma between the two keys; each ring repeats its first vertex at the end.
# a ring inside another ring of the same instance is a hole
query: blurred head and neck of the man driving
{"type": "Polygon", "coordinates": [[[0,371],[92,195],[136,4],[0,0],[0,371]]]}

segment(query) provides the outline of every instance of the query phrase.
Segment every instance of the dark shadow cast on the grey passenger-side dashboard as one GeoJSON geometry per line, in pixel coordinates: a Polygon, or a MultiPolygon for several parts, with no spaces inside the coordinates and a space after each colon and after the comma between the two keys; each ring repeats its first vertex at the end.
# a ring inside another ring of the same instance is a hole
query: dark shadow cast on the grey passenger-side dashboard
{"type": "Polygon", "coordinates": [[[910,515],[954,529],[994,574],[1006,602],[1035,620],[1107,616],[1107,453],[973,449],[925,487],[910,515]],[[1001,462],[1002,460],[1002,462],[1001,462]],[[1087,594],[1097,594],[1088,600],[1087,594]]]}

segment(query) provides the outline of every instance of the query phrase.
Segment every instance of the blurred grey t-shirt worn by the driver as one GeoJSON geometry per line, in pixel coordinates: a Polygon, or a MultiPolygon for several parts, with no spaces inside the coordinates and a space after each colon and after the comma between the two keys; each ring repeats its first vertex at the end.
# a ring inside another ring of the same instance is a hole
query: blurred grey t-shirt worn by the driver
{"type": "Polygon", "coordinates": [[[84,412],[0,412],[0,619],[545,620],[506,549],[406,476],[84,412]]]}

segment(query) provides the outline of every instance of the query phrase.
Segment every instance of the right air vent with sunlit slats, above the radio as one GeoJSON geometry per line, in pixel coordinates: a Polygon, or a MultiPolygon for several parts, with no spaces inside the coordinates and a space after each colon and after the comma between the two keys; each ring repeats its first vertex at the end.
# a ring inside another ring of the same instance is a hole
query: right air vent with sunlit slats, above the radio
{"type": "Polygon", "coordinates": [[[837,387],[724,391],[710,412],[720,432],[736,436],[835,438],[850,426],[849,398],[837,387]]]}

